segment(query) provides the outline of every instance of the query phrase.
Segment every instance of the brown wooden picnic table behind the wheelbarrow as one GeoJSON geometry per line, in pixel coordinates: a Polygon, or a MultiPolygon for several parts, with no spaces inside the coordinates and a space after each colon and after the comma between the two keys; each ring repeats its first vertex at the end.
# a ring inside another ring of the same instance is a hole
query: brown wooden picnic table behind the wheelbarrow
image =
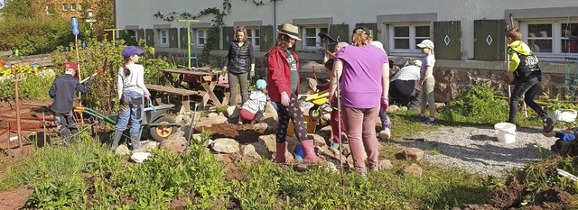
{"type": "Polygon", "coordinates": [[[159,71],[163,72],[163,77],[172,83],[172,87],[196,90],[198,93],[196,95],[202,97],[202,107],[207,106],[209,101],[216,106],[228,104],[228,83],[219,83],[220,72],[213,72],[210,68],[169,68],[159,71]],[[189,87],[184,86],[183,82],[189,87]],[[222,101],[215,96],[215,87],[223,87],[225,96],[222,101]]]}

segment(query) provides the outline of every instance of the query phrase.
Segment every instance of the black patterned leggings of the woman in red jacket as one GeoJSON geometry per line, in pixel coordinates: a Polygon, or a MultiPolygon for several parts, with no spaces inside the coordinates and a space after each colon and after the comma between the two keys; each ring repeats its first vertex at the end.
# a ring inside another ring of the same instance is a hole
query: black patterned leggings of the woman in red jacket
{"type": "Polygon", "coordinates": [[[293,121],[293,127],[297,139],[299,141],[306,140],[307,131],[305,125],[303,124],[303,112],[299,108],[299,102],[297,102],[297,96],[291,94],[289,98],[289,106],[284,106],[281,102],[275,102],[278,106],[277,115],[279,115],[279,125],[277,126],[276,132],[276,142],[284,143],[285,137],[287,137],[287,126],[289,125],[289,120],[293,121]]]}

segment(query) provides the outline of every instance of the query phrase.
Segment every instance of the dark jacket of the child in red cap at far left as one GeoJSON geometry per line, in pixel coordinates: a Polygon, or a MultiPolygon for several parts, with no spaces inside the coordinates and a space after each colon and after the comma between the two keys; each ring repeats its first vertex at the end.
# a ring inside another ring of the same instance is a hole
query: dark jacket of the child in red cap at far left
{"type": "Polygon", "coordinates": [[[74,102],[75,90],[79,90],[82,93],[86,92],[89,90],[92,80],[93,78],[90,78],[87,85],[83,86],[78,78],[72,78],[70,74],[54,79],[51,90],[48,92],[48,95],[54,99],[51,105],[52,112],[60,114],[70,113],[74,102]]]}

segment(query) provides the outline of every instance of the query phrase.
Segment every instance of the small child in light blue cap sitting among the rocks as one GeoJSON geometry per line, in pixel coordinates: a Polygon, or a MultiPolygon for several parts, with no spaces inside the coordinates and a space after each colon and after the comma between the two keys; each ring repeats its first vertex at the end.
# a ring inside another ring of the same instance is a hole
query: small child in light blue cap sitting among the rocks
{"type": "Polygon", "coordinates": [[[243,121],[259,123],[267,104],[266,87],[264,79],[256,80],[256,89],[251,91],[247,101],[238,110],[238,124],[243,124],[243,121]]]}

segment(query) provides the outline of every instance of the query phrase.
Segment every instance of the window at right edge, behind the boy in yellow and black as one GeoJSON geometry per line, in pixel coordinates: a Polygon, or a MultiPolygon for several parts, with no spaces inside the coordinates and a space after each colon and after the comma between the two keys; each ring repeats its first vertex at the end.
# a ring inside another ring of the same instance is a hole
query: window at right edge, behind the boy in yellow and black
{"type": "Polygon", "coordinates": [[[545,60],[558,61],[578,55],[578,22],[568,22],[565,18],[521,22],[520,30],[530,50],[545,60]]]}

